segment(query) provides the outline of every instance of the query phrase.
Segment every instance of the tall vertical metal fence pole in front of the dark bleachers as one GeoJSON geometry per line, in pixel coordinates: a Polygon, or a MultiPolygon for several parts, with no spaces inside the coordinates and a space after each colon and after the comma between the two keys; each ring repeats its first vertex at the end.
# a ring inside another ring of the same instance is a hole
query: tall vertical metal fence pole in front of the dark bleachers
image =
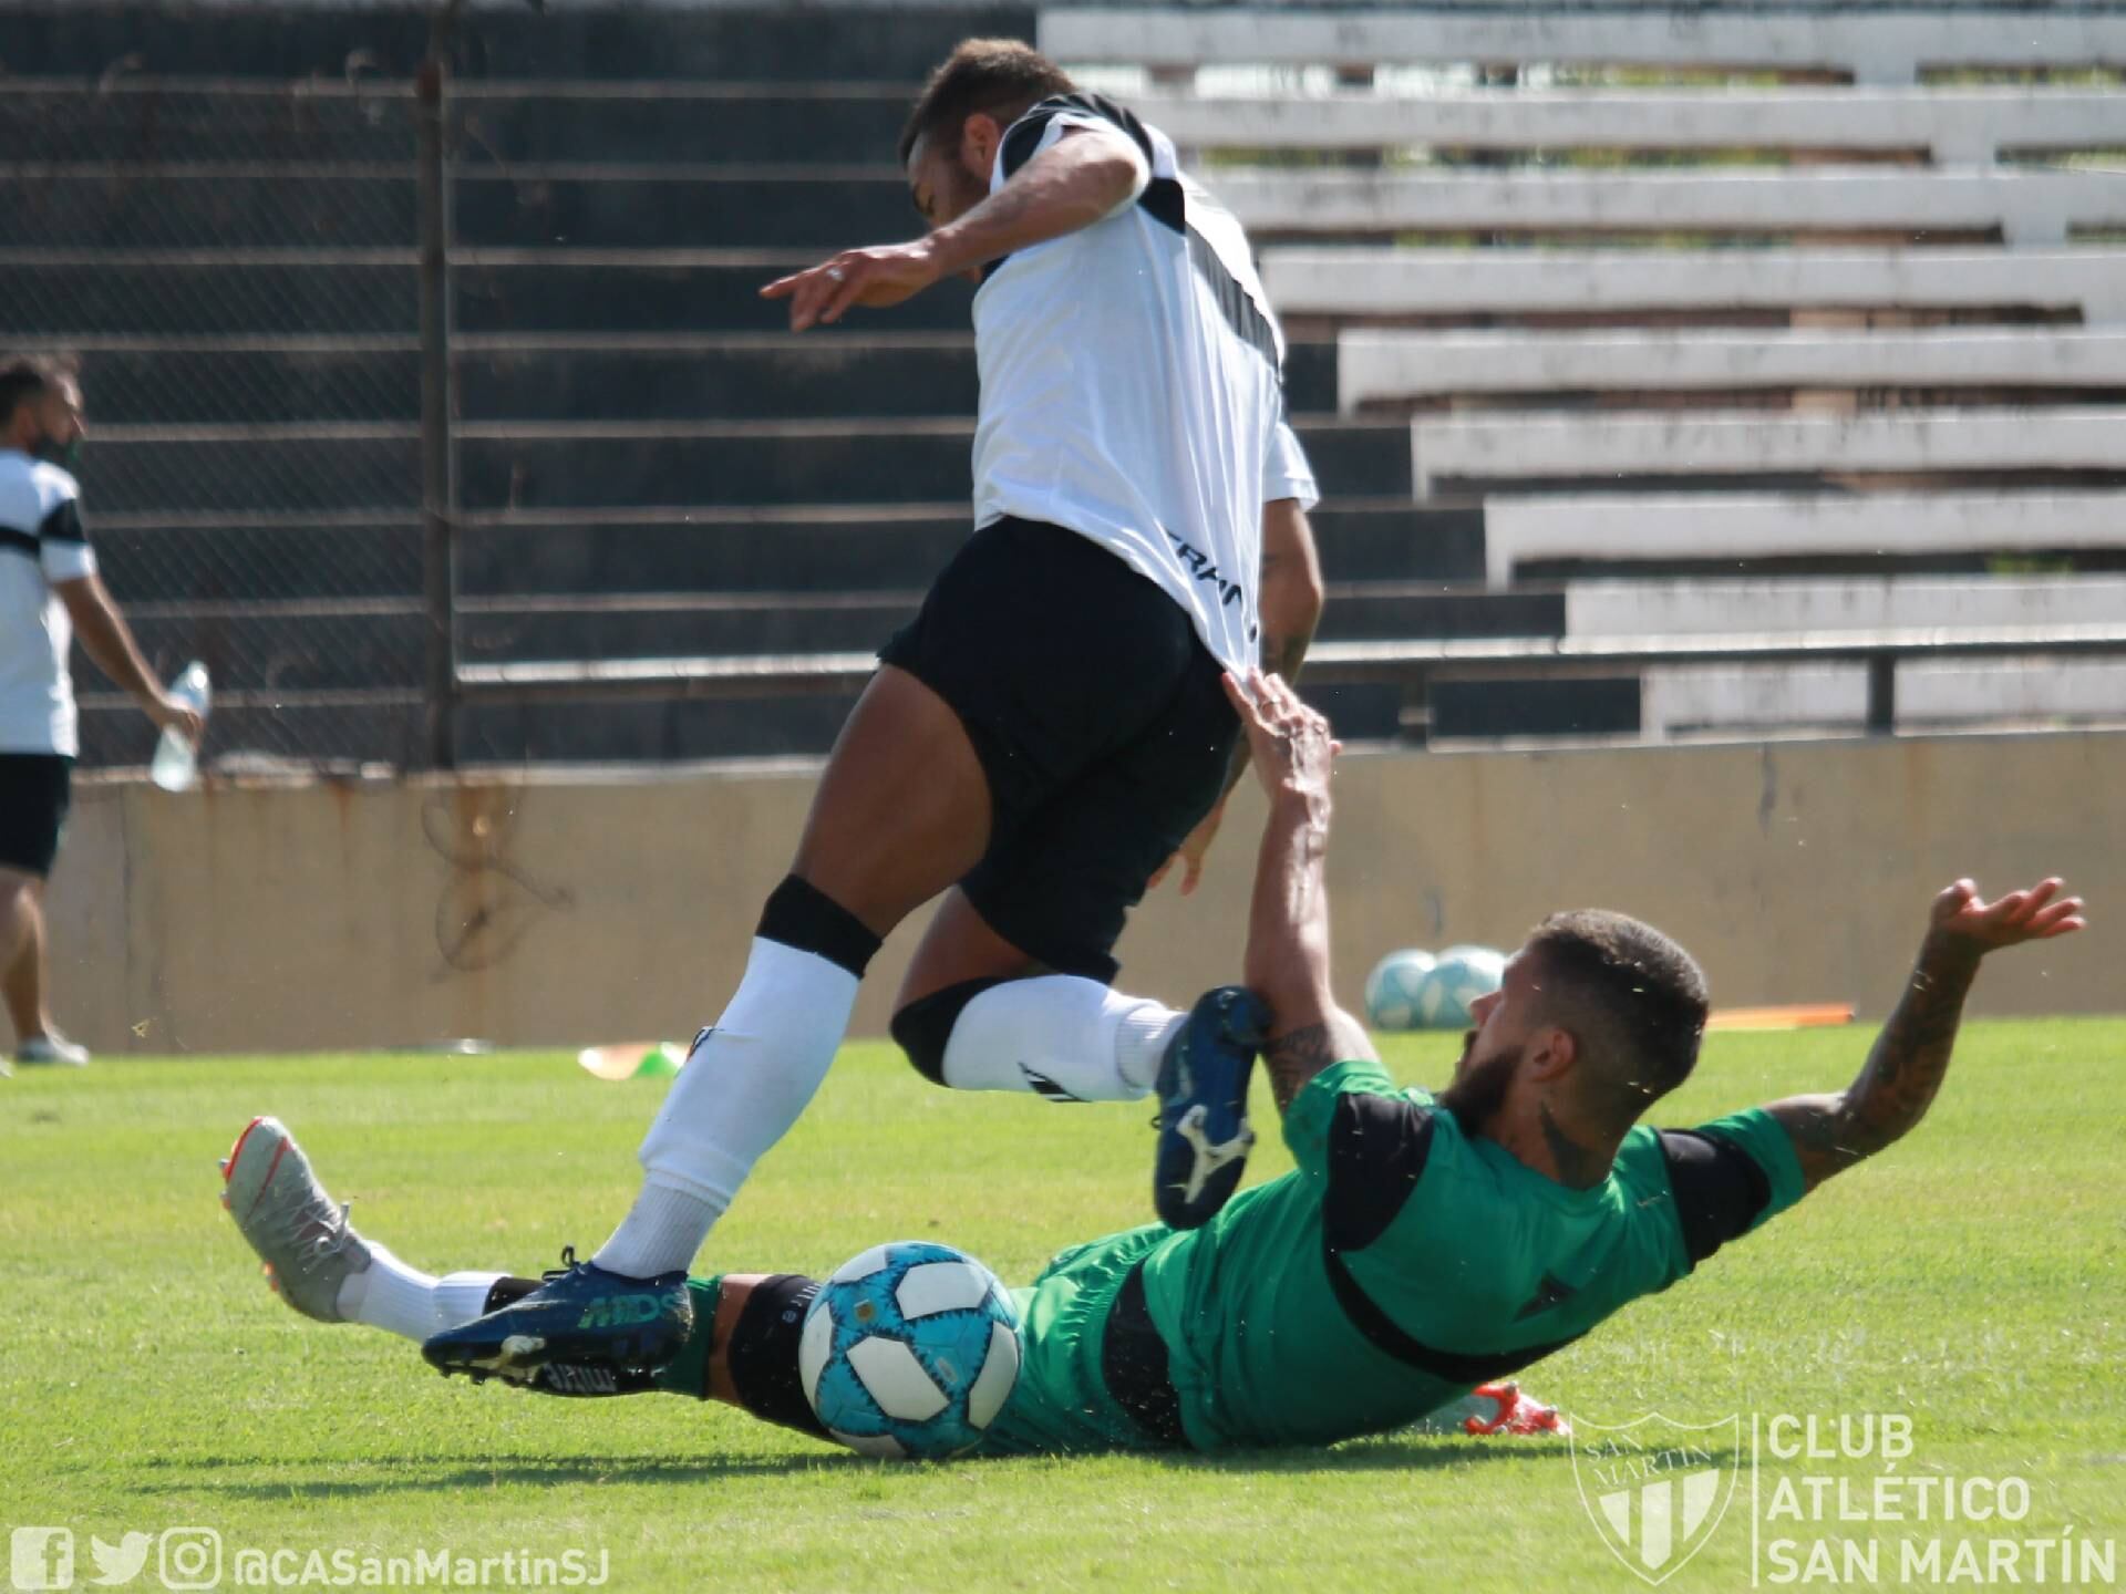
{"type": "Polygon", "coordinates": [[[449,11],[436,15],[415,94],[421,206],[421,531],[427,595],[427,765],[457,767],[457,485],[451,470],[451,200],[442,100],[449,11]]]}

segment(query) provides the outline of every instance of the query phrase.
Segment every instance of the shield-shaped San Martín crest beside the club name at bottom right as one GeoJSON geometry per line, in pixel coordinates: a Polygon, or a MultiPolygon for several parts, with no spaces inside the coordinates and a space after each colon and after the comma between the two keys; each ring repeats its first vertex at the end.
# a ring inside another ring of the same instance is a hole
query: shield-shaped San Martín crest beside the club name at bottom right
{"type": "Polygon", "coordinates": [[[1573,1418],[1573,1479],[1609,1554],[1669,1581],[1726,1515],[1741,1475],[1741,1418],[1688,1424],[1650,1411],[1605,1428],[1573,1418]]]}

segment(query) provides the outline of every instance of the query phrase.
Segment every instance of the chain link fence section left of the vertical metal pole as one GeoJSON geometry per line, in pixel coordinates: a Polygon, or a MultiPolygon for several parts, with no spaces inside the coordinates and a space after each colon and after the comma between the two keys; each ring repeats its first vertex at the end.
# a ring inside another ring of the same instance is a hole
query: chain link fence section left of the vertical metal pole
{"type": "MultiPolygon", "coordinates": [[[[0,79],[0,346],[79,359],[83,508],[219,769],[419,765],[421,206],[406,81],[0,79]]],[[[94,669],[83,761],[151,727],[94,669]]]]}

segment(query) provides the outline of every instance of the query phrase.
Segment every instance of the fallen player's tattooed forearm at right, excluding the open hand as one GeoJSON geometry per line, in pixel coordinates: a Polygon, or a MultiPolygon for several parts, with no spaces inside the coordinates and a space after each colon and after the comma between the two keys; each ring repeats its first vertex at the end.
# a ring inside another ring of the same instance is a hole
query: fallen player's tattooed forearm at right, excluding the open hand
{"type": "Polygon", "coordinates": [[[1926,1116],[1950,1071],[1977,969],[1975,950],[1930,937],[1860,1078],[1841,1095],[1796,1097],[1773,1107],[1809,1188],[1884,1150],[1926,1116]]]}

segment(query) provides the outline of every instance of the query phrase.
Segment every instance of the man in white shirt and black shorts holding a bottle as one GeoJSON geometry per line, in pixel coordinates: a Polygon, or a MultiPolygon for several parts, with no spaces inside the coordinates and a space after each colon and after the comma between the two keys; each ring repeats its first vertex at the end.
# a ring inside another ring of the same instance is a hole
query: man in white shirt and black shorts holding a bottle
{"type": "MultiPolygon", "coordinates": [[[[0,997],[17,1063],[89,1061],[51,1022],[45,973],[45,880],[72,799],[74,635],[157,727],[200,735],[140,659],[125,616],[96,574],[68,470],[85,421],[64,361],[0,359],[0,997]]],[[[0,1065],[0,1073],[6,1067],[0,1065]]]]}

